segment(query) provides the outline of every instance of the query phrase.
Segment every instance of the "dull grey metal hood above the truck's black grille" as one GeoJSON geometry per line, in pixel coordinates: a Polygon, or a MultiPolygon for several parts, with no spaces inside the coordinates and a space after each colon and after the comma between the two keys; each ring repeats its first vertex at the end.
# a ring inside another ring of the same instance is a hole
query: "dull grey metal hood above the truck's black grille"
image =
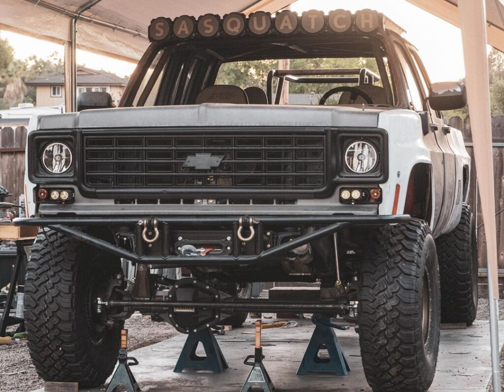
{"type": "Polygon", "coordinates": [[[318,105],[201,105],[120,107],[38,118],[37,129],[211,126],[377,127],[387,108],[318,105]]]}

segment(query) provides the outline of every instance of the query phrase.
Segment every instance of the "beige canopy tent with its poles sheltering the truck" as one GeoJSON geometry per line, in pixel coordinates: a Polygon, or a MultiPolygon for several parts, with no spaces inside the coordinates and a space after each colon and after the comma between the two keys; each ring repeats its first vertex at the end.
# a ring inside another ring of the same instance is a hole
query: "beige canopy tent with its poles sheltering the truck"
{"type": "MultiPolygon", "coordinates": [[[[497,247],[486,43],[504,51],[504,0],[408,0],[459,26],[462,31],[466,82],[478,183],[485,222],[492,341],[492,378],[499,390],[497,336],[497,247]]],[[[151,19],[182,14],[204,15],[263,10],[276,12],[294,0],[0,0],[0,29],[65,44],[67,107],[75,108],[75,48],[137,61],[149,41],[151,19]]],[[[334,2],[344,7],[344,1],[334,2]]]]}

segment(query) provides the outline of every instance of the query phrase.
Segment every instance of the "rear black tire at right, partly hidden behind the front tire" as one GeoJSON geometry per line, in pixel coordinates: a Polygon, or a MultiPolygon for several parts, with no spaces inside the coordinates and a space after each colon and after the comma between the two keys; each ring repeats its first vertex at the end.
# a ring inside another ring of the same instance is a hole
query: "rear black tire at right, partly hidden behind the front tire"
{"type": "Polygon", "coordinates": [[[471,325],[478,308],[478,244],[471,207],[462,205],[455,230],[436,239],[441,321],[471,325]]]}

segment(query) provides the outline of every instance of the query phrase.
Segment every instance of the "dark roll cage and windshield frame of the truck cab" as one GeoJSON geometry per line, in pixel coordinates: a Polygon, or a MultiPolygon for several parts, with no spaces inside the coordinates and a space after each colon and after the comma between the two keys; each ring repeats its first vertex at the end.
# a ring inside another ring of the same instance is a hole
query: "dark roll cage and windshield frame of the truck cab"
{"type": "MultiPolygon", "coordinates": [[[[391,33],[393,32],[388,30],[371,34],[352,31],[341,35],[328,33],[296,34],[292,37],[281,37],[281,39],[277,36],[242,36],[153,42],[140,60],[137,69],[125,88],[119,106],[143,106],[145,98],[156,83],[159,83],[159,91],[153,105],[193,104],[203,88],[215,83],[220,66],[229,62],[371,57],[376,59],[376,65],[380,76],[382,76],[381,81],[387,94],[387,101],[393,102],[395,107],[409,107],[406,86],[401,76],[401,66],[395,53],[391,33]],[[158,57],[157,66],[152,68],[152,63],[156,57],[158,57]],[[386,68],[384,58],[387,59],[389,70],[386,68]],[[149,68],[151,69],[151,76],[142,85],[149,68]],[[387,77],[384,77],[385,75],[387,77]],[[158,80],[158,78],[161,80],[158,80]]],[[[394,34],[394,36],[396,39],[400,37],[397,34],[394,34]]],[[[287,80],[285,77],[291,76],[293,77],[290,79],[291,82],[312,83],[314,80],[308,82],[304,81],[302,77],[321,76],[320,71],[290,70],[285,74],[274,71],[275,73],[268,75],[268,88],[271,87],[271,92],[267,94],[269,97],[268,103],[278,103],[279,99],[277,97],[273,98],[273,83],[271,83],[273,78],[287,80]],[[310,73],[313,74],[309,75],[310,73]]],[[[359,75],[361,69],[324,70],[324,72],[327,72],[325,76],[340,77],[345,73],[348,75],[349,71],[353,75],[359,75]]],[[[359,83],[361,79],[371,76],[370,71],[363,72],[364,75],[359,76],[359,78],[354,77],[354,79],[351,79],[351,83],[359,83]]],[[[378,75],[373,76],[374,81],[378,80],[376,76],[378,75]]],[[[340,79],[338,82],[341,83],[342,81],[340,79]]]]}

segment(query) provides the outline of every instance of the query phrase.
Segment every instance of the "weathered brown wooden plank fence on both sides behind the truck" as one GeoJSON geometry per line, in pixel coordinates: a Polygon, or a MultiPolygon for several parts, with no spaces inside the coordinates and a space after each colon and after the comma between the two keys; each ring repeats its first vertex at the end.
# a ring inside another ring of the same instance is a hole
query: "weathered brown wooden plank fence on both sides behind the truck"
{"type": "MultiPolygon", "coordinates": [[[[7,120],[4,120],[4,122],[7,120]]],[[[466,147],[474,162],[472,147],[472,132],[469,118],[462,120],[452,117],[448,123],[454,128],[460,129],[464,135],[466,147]]],[[[0,185],[11,191],[12,196],[7,201],[17,202],[19,195],[23,193],[24,181],[24,149],[26,145],[27,124],[2,124],[0,123],[0,185]]],[[[495,208],[497,211],[497,247],[499,276],[504,280],[504,116],[496,116],[492,119],[493,136],[493,161],[494,161],[494,184],[495,184],[495,208]]],[[[481,209],[477,196],[477,174],[473,164],[471,168],[469,204],[477,211],[479,243],[479,268],[480,276],[486,275],[485,254],[485,227],[482,225],[481,209]]],[[[500,281],[500,279],[499,279],[500,281]]]]}

